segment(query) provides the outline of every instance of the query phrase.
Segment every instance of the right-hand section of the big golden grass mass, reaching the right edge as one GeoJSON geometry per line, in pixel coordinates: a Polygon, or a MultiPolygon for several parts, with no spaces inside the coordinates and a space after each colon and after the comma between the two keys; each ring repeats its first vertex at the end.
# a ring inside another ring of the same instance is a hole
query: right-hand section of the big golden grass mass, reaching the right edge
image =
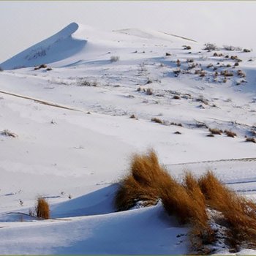
{"type": "Polygon", "coordinates": [[[223,185],[210,171],[198,184],[206,204],[222,213],[229,229],[228,242],[238,250],[243,242],[256,246],[256,204],[223,185]]]}

